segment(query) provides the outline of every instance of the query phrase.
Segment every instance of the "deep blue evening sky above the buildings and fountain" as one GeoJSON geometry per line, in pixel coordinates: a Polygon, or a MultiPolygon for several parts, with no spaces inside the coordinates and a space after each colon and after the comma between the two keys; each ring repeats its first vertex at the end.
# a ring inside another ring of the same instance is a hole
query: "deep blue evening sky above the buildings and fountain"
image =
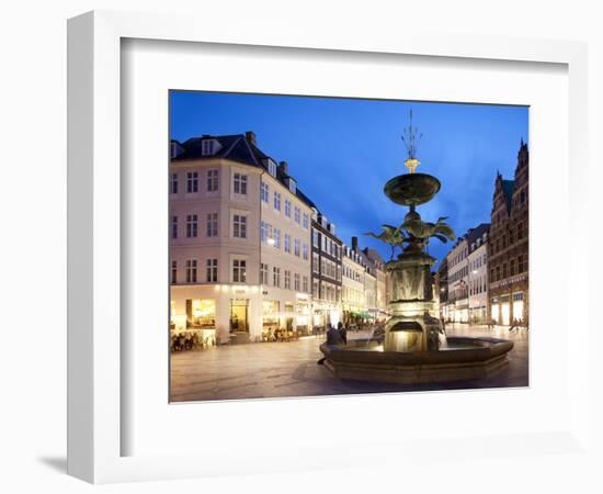
{"type": "MultiPolygon", "coordinates": [[[[170,98],[171,138],[255,132],[258,146],[288,162],[343,242],[356,235],[361,247],[377,248],[386,260],[389,248],[363,233],[398,225],[408,211],[389,201],[383,187],[407,172],[400,135],[410,109],[423,133],[418,171],[442,182],[418,212],[424,221],[448,216],[457,235],[490,221],[497,170],[513,179],[520,141],[528,142],[527,106],[196,91],[170,98]]],[[[450,247],[432,239],[429,249],[440,260],[450,247]]]]}

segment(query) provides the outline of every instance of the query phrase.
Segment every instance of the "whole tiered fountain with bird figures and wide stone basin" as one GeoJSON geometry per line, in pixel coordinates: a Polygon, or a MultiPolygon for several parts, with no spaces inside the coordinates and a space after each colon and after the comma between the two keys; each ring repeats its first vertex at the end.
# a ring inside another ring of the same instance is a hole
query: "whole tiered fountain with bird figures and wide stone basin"
{"type": "Polygon", "coordinates": [[[409,211],[401,225],[383,225],[380,234],[367,234],[391,247],[391,259],[386,263],[391,277],[391,300],[385,335],[382,340],[322,344],[326,367],[340,378],[396,383],[486,378],[507,366],[507,353],[513,348],[511,341],[503,339],[446,336],[435,314],[431,277],[435,258],[425,248],[431,238],[446,243],[456,236],[445,217],[429,223],[417,212],[417,206],[431,201],[441,189],[435,177],[416,172],[420,165],[420,137],[412,126],[411,111],[410,125],[402,135],[409,172],[394,177],[384,188],[392,202],[409,211]],[[401,252],[396,258],[397,249],[401,252]]]}

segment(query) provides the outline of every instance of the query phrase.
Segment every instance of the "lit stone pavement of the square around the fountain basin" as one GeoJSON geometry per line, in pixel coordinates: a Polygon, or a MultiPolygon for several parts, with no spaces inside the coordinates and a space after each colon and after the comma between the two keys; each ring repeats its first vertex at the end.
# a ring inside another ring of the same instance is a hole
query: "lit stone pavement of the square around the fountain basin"
{"type": "MultiPolygon", "coordinates": [[[[528,384],[528,333],[497,327],[447,325],[448,335],[492,336],[511,339],[509,367],[488,379],[437,384],[385,384],[345,381],[333,377],[317,360],[322,357],[321,338],[291,343],[232,345],[171,357],[171,401],[207,401],[329,394],[433,391],[477,388],[526,386],[528,384]]],[[[350,337],[365,337],[352,334],[350,337]]]]}

